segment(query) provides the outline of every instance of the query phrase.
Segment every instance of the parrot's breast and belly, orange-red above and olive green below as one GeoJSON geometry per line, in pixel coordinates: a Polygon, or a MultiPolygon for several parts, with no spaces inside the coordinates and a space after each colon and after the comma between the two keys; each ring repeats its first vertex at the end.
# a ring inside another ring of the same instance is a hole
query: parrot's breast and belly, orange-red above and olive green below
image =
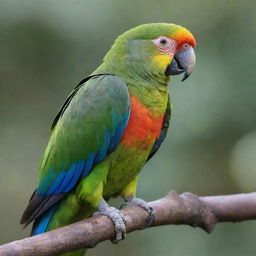
{"type": "Polygon", "coordinates": [[[109,172],[104,185],[104,197],[118,195],[140,172],[152,147],[159,138],[164,113],[155,113],[131,96],[129,122],[117,149],[108,158],[109,172]]]}

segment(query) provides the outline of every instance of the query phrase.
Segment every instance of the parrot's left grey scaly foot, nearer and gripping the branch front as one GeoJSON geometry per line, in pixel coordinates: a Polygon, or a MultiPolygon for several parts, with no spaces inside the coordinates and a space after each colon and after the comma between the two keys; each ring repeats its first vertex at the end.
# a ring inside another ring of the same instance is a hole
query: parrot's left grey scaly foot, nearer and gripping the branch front
{"type": "Polygon", "coordinates": [[[115,225],[116,237],[111,240],[112,243],[117,244],[126,236],[126,227],[123,214],[115,207],[110,207],[102,198],[98,206],[99,211],[95,212],[93,216],[105,215],[108,216],[115,225]]]}

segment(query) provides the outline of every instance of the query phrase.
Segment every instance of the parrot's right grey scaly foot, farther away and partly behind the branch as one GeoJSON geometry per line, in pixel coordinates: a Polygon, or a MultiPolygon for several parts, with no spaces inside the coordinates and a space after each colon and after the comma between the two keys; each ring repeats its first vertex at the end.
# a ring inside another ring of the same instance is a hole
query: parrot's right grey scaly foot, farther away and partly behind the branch
{"type": "Polygon", "coordinates": [[[144,201],[143,199],[131,197],[124,205],[121,206],[121,209],[129,206],[140,206],[148,213],[148,217],[146,219],[146,227],[150,226],[155,220],[156,214],[154,209],[149,205],[148,202],[144,201]]]}

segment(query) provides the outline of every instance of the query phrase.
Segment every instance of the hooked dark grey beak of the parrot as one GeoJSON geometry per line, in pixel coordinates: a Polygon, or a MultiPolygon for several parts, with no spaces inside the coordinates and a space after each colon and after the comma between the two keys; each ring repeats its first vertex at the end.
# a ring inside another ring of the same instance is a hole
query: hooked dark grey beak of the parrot
{"type": "Polygon", "coordinates": [[[192,47],[187,50],[176,53],[172,59],[172,62],[168,65],[165,74],[166,75],[179,75],[184,73],[182,82],[186,80],[192,73],[196,64],[196,55],[192,47]]]}

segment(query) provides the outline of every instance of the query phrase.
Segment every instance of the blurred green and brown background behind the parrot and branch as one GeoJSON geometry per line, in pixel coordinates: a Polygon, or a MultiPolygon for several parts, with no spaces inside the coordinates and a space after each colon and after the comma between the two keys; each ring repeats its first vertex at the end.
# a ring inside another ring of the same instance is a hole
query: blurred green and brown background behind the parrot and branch
{"type": "MultiPolygon", "coordinates": [[[[0,243],[29,234],[19,219],[66,96],[117,35],[142,23],[183,25],[198,45],[191,78],[170,85],[168,138],[144,168],[138,196],[255,190],[255,10],[254,0],[0,0],[0,243]]],[[[255,255],[255,237],[255,221],[218,224],[210,235],[166,226],[132,233],[118,246],[102,243],[88,255],[255,255]]]]}

